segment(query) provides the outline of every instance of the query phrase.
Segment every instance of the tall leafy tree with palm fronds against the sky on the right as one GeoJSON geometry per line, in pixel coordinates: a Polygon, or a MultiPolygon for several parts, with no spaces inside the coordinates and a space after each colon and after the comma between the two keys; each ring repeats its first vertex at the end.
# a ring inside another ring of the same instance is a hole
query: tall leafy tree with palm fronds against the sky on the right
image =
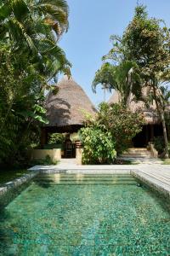
{"type": "Polygon", "coordinates": [[[165,112],[169,92],[165,83],[170,79],[170,30],[163,20],[150,18],[146,7],[138,5],[133,20],[122,37],[111,36],[112,49],[102,59],[107,61],[97,71],[93,88],[106,84],[119,92],[120,102],[144,101],[156,105],[163,126],[165,152],[168,153],[165,112]],[[145,96],[144,89],[150,94],[145,96]]]}

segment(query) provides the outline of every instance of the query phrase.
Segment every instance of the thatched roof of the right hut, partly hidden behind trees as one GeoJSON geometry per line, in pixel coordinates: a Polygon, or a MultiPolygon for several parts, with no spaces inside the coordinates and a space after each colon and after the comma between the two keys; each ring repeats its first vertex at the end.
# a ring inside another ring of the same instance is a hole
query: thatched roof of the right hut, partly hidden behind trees
{"type": "MultiPolygon", "coordinates": [[[[145,88],[143,90],[143,96],[148,96],[150,93],[150,88],[145,88]]],[[[121,96],[120,94],[115,91],[111,98],[109,99],[108,103],[118,103],[121,102],[121,96]]],[[[153,105],[150,106],[150,108],[146,108],[144,102],[138,101],[135,102],[133,101],[133,95],[131,96],[131,100],[128,106],[133,112],[139,111],[144,114],[144,120],[147,125],[152,125],[152,124],[159,124],[160,119],[158,117],[158,114],[156,113],[156,103],[154,102],[153,105]]]]}

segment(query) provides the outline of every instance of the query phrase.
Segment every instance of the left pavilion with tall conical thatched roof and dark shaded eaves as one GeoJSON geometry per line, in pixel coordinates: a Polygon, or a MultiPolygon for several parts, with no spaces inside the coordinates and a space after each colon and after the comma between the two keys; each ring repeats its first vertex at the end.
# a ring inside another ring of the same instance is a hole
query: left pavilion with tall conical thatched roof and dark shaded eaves
{"type": "Polygon", "coordinates": [[[84,113],[93,116],[96,113],[94,104],[72,78],[64,76],[56,88],[58,92],[50,91],[45,103],[49,123],[42,127],[42,148],[48,143],[49,133],[66,133],[68,137],[82,128],[85,121],[84,113]]]}

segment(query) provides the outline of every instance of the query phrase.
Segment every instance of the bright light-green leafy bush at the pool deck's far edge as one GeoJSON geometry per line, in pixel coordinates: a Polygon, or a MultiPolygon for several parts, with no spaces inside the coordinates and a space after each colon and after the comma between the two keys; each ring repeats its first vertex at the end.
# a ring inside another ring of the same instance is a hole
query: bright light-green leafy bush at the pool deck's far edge
{"type": "Polygon", "coordinates": [[[116,158],[115,142],[111,132],[97,126],[81,129],[84,164],[111,164],[116,158]]]}

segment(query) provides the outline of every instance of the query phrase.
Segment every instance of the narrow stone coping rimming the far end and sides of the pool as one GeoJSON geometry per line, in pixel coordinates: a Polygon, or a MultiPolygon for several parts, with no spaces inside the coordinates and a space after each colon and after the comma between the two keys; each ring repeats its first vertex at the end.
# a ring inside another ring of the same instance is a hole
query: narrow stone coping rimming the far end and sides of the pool
{"type": "Polygon", "coordinates": [[[99,169],[96,168],[96,166],[93,166],[93,168],[88,168],[88,166],[85,166],[84,168],[81,168],[81,166],[77,166],[77,168],[41,168],[38,166],[34,166],[34,170],[28,169],[28,171],[31,171],[31,173],[25,174],[21,177],[15,178],[14,180],[4,183],[2,187],[0,187],[0,196],[4,195],[8,192],[10,189],[14,189],[22,185],[23,183],[29,182],[33,177],[36,177],[39,173],[67,173],[67,174],[131,174],[133,177],[136,177],[141,181],[142,183],[145,183],[148,185],[151,189],[156,190],[157,192],[166,195],[170,199],[170,186],[166,185],[165,183],[161,182],[160,180],[156,179],[155,177],[150,177],[149,174],[142,172],[142,170],[139,170],[138,166],[119,166],[119,168],[113,169],[111,166],[107,166],[107,168],[104,166],[100,166],[99,169]]]}

